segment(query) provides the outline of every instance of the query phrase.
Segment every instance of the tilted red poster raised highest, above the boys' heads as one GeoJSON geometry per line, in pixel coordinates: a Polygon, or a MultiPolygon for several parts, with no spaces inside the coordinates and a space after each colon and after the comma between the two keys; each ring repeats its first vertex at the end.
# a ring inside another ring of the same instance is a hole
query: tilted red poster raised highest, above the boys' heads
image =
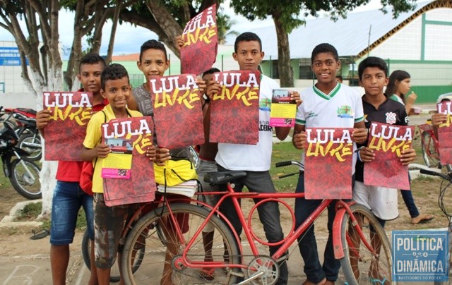
{"type": "Polygon", "coordinates": [[[216,13],[213,4],[186,24],[182,33],[181,73],[199,75],[215,63],[218,49],[216,13]]]}

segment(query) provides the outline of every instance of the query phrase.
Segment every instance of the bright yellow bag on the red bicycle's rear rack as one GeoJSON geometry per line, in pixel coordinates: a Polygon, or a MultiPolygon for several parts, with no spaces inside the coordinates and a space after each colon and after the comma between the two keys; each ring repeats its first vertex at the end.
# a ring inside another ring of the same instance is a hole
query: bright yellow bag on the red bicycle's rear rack
{"type": "Polygon", "coordinates": [[[188,158],[172,158],[165,166],[154,164],[155,183],[165,186],[175,186],[191,179],[198,179],[196,169],[188,158]]]}

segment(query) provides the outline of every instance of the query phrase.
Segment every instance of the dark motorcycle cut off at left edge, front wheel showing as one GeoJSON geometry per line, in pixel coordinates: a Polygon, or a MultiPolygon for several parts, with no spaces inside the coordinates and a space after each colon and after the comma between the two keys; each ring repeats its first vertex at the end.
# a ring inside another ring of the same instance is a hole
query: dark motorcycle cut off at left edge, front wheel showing
{"type": "Polygon", "coordinates": [[[28,152],[20,149],[19,136],[8,121],[0,130],[0,157],[3,170],[13,188],[23,197],[35,200],[42,197],[40,167],[28,159],[28,152]]]}

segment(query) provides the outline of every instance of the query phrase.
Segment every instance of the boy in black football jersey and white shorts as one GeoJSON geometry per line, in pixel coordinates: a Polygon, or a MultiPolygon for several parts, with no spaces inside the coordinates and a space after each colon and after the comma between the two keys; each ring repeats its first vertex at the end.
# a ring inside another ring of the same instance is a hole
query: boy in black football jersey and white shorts
{"type": "MultiPolygon", "coordinates": [[[[362,105],[366,117],[366,127],[372,122],[388,123],[396,126],[408,126],[408,115],[403,104],[388,99],[383,88],[388,83],[386,74],[388,66],[383,59],[369,56],[359,63],[359,85],[364,87],[362,105]]],[[[353,200],[368,207],[384,226],[386,220],[398,217],[397,189],[364,185],[364,162],[375,159],[374,150],[359,145],[358,162],[356,164],[356,182],[353,188],[353,200]]],[[[410,148],[402,151],[400,164],[408,165],[415,159],[415,150],[410,148]]],[[[393,171],[393,169],[391,169],[393,171]]]]}

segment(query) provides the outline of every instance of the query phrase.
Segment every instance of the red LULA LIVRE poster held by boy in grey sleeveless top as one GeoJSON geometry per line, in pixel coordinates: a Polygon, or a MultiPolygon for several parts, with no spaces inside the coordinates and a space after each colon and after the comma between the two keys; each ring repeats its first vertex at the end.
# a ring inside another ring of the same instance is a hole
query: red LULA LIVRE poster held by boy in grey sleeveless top
{"type": "Polygon", "coordinates": [[[160,147],[172,150],[204,143],[201,92],[195,80],[194,74],[150,80],[155,132],[160,147]]]}

